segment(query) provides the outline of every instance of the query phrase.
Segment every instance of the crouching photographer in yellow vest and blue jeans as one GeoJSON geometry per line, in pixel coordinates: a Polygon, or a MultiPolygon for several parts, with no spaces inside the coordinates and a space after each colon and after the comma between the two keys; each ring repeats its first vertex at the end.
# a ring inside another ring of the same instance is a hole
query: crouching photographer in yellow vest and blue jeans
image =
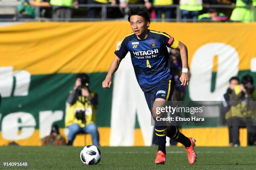
{"type": "Polygon", "coordinates": [[[90,133],[93,145],[99,146],[99,133],[95,125],[98,96],[89,90],[89,83],[87,74],[78,74],[67,99],[70,104],[65,117],[65,126],[69,128],[68,145],[73,144],[77,134],[90,133]]]}

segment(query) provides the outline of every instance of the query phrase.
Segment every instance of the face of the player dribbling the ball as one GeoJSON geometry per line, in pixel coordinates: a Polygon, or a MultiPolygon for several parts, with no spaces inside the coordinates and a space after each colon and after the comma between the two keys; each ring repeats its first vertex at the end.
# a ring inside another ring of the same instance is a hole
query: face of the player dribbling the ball
{"type": "Polygon", "coordinates": [[[130,18],[131,29],[135,35],[140,36],[148,31],[148,21],[139,15],[132,15],[130,18]]]}

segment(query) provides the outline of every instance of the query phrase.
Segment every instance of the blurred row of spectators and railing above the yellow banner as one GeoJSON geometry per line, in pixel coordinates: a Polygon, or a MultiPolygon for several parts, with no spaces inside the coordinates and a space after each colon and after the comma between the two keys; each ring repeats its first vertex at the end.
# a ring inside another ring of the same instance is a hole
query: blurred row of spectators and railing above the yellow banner
{"type": "Polygon", "coordinates": [[[126,5],[115,0],[88,1],[90,2],[70,0],[73,3],[69,5],[55,5],[53,0],[2,0],[0,21],[127,20],[129,8],[141,5],[148,8],[152,21],[253,22],[256,19],[255,0],[190,0],[189,5],[186,0],[162,1],[164,3],[125,1],[126,5]]]}

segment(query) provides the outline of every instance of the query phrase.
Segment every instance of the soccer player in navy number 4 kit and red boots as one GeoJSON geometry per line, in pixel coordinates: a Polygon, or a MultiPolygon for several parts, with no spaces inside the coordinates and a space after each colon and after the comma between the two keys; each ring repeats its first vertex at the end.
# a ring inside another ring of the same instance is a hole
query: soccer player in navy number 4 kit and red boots
{"type": "MultiPolygon", "coordinates": [[[[154,101],[151,114],[156,117],[156,105],[159,105],[157,103],[171,100],[174,90],[172,65],[167,47],[180,50],[182,59],[180,81],[182,86],[186,86],[189,83],[187,47],[164,32],[149,30],[150,16],[145,7],[131,8],[128,12],[128,21],[133,32],[123,39],[118,50],[115,51],[116,57],[110,65],[105,80],[102,82],[102,87],[110,88],[112,75],[129,51],[138,84],[144,92],[150,110],[151,101],[154,101]]],[[[182,143],[187,151],[189,163],[191,165],[195,163],[194,138],[187,138],[179,132],[176,126],[156,126],[155,133],[159,145],[155,160],[156,165],[165,163],[166,136],[182,143]]]]}

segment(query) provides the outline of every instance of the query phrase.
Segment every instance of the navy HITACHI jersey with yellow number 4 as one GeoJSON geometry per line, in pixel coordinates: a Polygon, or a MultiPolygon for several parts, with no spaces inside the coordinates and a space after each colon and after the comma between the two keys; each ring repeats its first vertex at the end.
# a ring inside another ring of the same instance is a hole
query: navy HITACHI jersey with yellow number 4
{"type": "Polygon", "coordinates": [[[148,30],[148,36],[139,40],[133,33],[127,35],[115,55],[123,59],[128,51],[135,75],[143,92],[154,89],[162,80],[172,79],[172,64],[167,47],[177,48],[179,41],[165,32],[148,30]]]}

